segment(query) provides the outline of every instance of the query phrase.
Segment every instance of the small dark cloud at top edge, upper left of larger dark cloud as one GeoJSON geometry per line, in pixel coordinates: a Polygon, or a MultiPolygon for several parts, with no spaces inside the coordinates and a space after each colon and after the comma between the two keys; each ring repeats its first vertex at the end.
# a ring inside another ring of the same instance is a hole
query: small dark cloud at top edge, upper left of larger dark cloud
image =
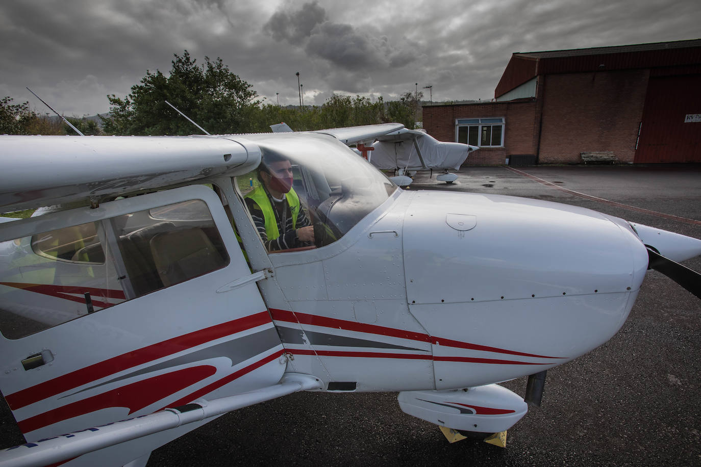
{"type": "Polygon", "coordinates": [[[263,27],[275,41],[287,41],[299,45],[311,36],[312,29],[326,20],[326,11],[318,1],[306,3],[297,11],[280,8],[275,11],[263,27]]]}

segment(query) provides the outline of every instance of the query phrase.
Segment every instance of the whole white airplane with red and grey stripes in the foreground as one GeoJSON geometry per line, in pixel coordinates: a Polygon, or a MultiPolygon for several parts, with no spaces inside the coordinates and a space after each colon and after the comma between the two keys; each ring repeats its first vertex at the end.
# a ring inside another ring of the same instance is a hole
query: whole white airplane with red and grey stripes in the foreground
{"type": "Polygon", "coordinates": [[[1,211],[55,206],[0,223],[0,389],[27,440],[0,466],[144,466],[295,391],[397,391],[446,430],[503,433],[527,404],[496,383],[538,375],[538,403],[545,370],[618,331],[648,267],[701,295],[676,263],[701,240],[552,202],[404,191],[346,146],[400,128],[0,136],[1,211]],[[247,200],[273,155],[313,244],[261,241],[247,200]]]}

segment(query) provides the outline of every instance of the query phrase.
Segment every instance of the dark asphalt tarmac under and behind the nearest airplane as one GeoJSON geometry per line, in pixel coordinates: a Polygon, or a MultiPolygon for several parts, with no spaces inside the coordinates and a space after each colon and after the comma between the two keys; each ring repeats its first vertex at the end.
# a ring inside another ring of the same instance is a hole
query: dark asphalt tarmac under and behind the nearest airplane
{"type": "MultiPolygon", "coordinates": [[[[465,167],[458,175],[447,185],[418,174],[409,190],[533,197],[701,238],[700,165],[465,167]]],[[[684,264],[701,272],[701,257],[684,264]]],[[[618,334],[548,370],[543,404],[508,431],[505,449],[449,444],[437,426],[404,414],[396,393],[310,392],[226,414],[156,449],[148,466],[701,465],[700,370],[701,300],[651,271],[618,334]]],[[[523,396],[526,379],[503,386],[523,396]]],[[[23,442],[6,407],[0,435],[2,447],[23,442]]]]}

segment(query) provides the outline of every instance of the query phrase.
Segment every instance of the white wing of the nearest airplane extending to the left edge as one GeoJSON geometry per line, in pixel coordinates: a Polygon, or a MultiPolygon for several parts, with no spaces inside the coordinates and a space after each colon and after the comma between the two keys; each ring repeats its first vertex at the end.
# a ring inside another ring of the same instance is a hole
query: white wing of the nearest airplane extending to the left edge
{"type": "Polygon", "coordinates": [[[0,144],[6,157],[0,212],[244,174],[261,157],[259,151],[248,153],[233,137],[217,136],[3,136],[0,144]]]}

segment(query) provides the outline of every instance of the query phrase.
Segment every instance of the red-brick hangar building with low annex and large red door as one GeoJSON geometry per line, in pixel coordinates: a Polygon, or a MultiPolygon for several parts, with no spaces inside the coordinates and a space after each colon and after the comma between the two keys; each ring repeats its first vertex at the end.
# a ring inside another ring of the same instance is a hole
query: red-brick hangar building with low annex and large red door
{"type": "Polygon", "coordinates": [[[423,107],[468,165],[701,162],[701,39],[514,53],[493,102],[423,107]]]}

